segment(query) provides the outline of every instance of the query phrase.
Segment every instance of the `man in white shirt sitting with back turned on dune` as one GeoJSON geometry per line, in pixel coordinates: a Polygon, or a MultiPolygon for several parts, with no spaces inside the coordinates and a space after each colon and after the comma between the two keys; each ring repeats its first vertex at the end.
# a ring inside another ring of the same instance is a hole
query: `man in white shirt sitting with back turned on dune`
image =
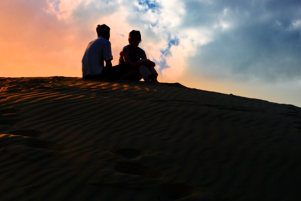
{"type": "Polygon", "coordinates": [[[130,63],[112,66],[110,28],[106,24],[98,24],[96,32],[98,38],[88,44],[82,57],[82,78],[126,79],[126,74],[132,69],[130,63]]]}

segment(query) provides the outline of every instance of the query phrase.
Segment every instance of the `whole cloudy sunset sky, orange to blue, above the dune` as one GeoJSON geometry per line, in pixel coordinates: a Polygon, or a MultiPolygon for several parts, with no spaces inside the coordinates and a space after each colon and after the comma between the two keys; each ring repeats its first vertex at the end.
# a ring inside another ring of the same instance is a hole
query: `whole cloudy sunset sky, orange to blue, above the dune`
{"type": "Polygon", "coordinates": [[[131,30],[160,82],[301,107],[300,0],[1,0],[0,77],[81,77],[95,28],[131,30]]]}

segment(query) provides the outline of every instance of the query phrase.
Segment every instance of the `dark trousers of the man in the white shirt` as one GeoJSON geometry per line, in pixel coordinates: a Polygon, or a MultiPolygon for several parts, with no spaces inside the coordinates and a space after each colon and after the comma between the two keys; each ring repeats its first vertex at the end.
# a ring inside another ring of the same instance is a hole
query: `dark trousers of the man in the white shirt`
{"type": "Polygon", "coordinates": [[[93,79],[93,78],[105,78],[110,80],[117,80],[124,76],[126,73],[131,71],[131,65],[128,62],[121,63],[112,67],[104,67],[102,72],[98,75],[84,75],[84,79],[93,79]]]}

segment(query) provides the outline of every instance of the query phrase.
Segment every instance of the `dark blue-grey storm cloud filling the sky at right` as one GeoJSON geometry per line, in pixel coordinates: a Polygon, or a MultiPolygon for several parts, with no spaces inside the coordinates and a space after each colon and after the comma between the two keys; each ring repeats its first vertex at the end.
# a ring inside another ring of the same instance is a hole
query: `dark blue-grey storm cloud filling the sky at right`
{"type": "Polygon", "coordinates": [[[190,57],[193,71],[211,77],[237,75],[264,81],[301,77],[300,1],[189,1],[183,27],[206,27],[222,16],[229,30],[214,30],[213,41],[190,57]],[[223,15],[225,9],[227,14],[223,15]],[[295,24],[294,24],[295,23],[295,24]],[[300,22],[299,22],[300,23],[300,22]]]}

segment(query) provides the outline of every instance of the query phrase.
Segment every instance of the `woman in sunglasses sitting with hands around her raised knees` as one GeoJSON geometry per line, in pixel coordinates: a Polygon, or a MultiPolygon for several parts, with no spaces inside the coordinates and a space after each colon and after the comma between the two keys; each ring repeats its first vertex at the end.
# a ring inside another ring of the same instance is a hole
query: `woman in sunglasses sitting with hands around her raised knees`
{"type": "Polygon", "coordinates": [[[154,68],[156,64],[146,58],[144,50],[139,46],[141,42],[140,31],[129,32],[129,45],[124,46],[120,51],[119,64],[129,62],[132,70],[124,75],[122,79],[158,82],[158,73],[154,68]]]}

